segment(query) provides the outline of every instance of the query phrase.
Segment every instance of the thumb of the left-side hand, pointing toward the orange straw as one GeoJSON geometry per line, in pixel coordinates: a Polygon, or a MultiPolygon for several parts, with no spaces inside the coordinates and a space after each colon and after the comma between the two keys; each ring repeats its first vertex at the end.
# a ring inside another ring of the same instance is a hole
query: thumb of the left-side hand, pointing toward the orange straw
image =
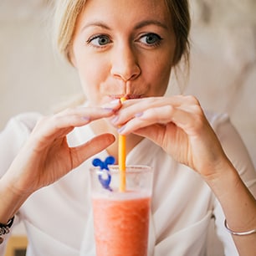
{"type": "Polygon", "coordinates": [[[115,141],[115,136],[112,134],[103,134],[87,141],[81,146],[70,148],[70,154],[73,161],[73,167],[79,166],[90,156],[94,156],[100,151],[105,150],[115,141]]]}

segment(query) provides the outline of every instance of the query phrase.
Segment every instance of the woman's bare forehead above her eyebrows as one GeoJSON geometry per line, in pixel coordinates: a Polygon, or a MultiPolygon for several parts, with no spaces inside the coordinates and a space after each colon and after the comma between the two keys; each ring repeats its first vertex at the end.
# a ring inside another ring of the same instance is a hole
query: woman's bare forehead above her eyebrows
{"type": "Polygon", "coordinates": [[[172,28],[171,13],[165,0],[87,0],[77,25],[103,21],[113,27],[119,24],[125,28],[144,20],[155,20],[172,28]]]}

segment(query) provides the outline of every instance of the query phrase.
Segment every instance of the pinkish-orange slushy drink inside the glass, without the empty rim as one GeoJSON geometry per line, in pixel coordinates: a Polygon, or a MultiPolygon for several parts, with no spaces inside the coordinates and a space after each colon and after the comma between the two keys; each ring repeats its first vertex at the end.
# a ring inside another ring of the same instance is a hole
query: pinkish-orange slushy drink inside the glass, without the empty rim
{"type": "Polygon", "coordinates": [[[98,256],[146,256],[151,198],[141,192],[94,196],[98,256]]]}

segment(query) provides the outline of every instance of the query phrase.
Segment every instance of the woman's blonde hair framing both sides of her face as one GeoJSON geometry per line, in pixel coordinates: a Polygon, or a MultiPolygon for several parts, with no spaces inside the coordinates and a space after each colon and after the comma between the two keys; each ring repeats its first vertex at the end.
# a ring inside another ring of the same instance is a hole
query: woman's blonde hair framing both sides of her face
{"type": "MultiPolygon", "coordinates": [[[[54,15],[54,44],[59,53],[70,61],[70,48],[74,36],[74,28],[82,12],[86,0],[58,0],[54,15]]],[[[174,64],[177,64],[182,56],[188,63],[190,15],[187,0],[165,0],[166,6],[172,16],[174,33],[177,38],[177,48],[174,56],[174,64]]]]}

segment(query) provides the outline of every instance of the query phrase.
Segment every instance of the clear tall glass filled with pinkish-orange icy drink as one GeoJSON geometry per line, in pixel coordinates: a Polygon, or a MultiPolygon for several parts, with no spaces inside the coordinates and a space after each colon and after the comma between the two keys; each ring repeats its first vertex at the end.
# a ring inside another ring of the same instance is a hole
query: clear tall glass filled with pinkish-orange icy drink
{"type": "Polygon", "coordinates": [[[90,169],[97,256],[146,256],[153,170],[125,166],[125,192],[120,192],[118,166],[90,169]],[[109,187],[102,179],[110,178],[109,187]]]}

